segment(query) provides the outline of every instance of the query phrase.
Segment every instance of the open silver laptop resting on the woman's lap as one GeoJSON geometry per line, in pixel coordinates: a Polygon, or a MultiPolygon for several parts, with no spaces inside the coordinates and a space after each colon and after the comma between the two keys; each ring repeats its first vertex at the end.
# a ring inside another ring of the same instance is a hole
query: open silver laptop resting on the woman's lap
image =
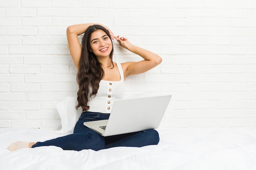
{"type": "Polygon", "coordinates": [[[171,95],[118,99],[108,120],[86,121],[83,124],[102,136],[158,128],[171,95]]]}

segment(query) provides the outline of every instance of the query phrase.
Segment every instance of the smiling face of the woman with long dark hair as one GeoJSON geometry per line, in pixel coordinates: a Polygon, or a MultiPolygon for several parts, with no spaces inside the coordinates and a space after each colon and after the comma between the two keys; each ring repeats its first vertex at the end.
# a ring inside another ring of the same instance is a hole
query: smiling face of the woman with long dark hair
{"type": "Polygon", "coordinates": [[[90,47],[90,51],[94,53],[96,57],[109,57],[113,48],[111,39],[101,29],[91,34],[90,47]]]}

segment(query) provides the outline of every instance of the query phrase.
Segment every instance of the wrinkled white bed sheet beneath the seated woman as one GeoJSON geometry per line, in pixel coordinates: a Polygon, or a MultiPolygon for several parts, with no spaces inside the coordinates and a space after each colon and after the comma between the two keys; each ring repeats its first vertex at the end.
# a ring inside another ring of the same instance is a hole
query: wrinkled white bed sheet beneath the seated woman
{"type": "Polygon", "coordinates": [[[7,150],[14,141],[44,141],[54,130],[1,129],[0,170],[256,170],[256,127],[160,131],[157,146],[93,151],[55,146],[7,150]]]}

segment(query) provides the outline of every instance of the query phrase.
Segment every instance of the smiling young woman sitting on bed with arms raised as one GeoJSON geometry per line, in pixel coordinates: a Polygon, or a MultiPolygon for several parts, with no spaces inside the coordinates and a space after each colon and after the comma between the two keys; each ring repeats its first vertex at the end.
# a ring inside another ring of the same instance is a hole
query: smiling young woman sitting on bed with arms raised
{"type": "MultiPolygon", "coordinates": [[[[131,44],[127,38],[115,36],[101,24],[78,24],[67,28],[67,42],[71,57],[78,70],[78,105],[83,113],[76,123],[74,133],[44,142],[18,141],[8,149],[58,146],[63,150],[101,150],[117,146],[141,147],[157,145],[156,130],[144,130],[110,137],[103,137],[83,125],[85,121],[108,119],[115,99],[124,94],[124,80],[129,75],[144,73],[162,62],[162,58],[148,50],[131,44]],[[83,34],[82,44],[78,35],[83,34]],[[115,63],[112,60],[112,39],[120,46],[141,56],[139,62],[115,63]]],[[[121,114],[121,113],[120,113],[121,114]]]]}

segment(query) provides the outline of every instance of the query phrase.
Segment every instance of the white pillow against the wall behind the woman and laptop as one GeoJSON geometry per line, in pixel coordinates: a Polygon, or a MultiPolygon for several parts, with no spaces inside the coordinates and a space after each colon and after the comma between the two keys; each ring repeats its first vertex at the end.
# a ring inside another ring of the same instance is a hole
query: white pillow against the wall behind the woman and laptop
{"type": "MultiPolygon", "coordinates": [[[[138,97],[150,97],[160,95],[159,92],[147,92],[147,93],[137,93],[137,94],[125,94],[124,99],[138,98],[138,97]]],[[[61,135],[72,134],[76,126],[81,113],[83,112],[80,107],[76,110],[77,98],[76,97],[65,97],[61,102],[56,104],[58,113],[61,117],[61,129],[56,130],[56,133],[61,135]]],[[[165,117],[163,117],[160,126],[157,130],[165,129],[165,117]]]]}

